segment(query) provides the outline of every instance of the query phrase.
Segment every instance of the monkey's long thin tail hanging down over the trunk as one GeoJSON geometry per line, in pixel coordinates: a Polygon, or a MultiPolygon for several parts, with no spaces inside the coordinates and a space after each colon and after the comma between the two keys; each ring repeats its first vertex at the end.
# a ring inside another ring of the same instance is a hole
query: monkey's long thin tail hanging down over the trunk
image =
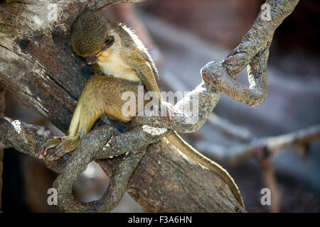
{"type": "Polygon", "coordinates": [[[223,167],[218,165],[218,163],[215,163],[212,160],[208,159],[208,157],[201,155],[201,153],[198,153],[198,151],[195,148],[186,143],[186,141],[184,141],[180,137],[180,135],[178,135],[175,131],[173,133],[170,133],[169,135],[166,135],[165,138],[169,141],[169,143],[171,143],[171,145],[173,145],[176,149],[180,150],[181,153],[183,153],[183,155],[190,157],[199,165],[203,165],[203,167],[206,167],[207,169],[218,174],[228,185],[231,192],[233,192],[233,195],[235,196],[235,199],[237,199],[238,203],[241,206],[245,207],[237,184],[235,184],[233,178],[228,174],[228,172],[225,169],[223,169],[223,167]]]}

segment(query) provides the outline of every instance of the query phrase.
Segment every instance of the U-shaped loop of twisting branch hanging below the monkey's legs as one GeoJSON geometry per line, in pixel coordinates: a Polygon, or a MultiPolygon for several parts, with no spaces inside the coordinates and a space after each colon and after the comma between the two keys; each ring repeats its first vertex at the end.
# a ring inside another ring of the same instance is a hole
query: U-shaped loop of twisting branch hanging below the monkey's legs
{"type": "MultiPolygon", "coordinates": [[[[92,131],[82,141],[80,146],[70,155],[68,164],[60,172],[53,187],[57,189],[59,209],[64,212],[110,212],[119,204],[127,188],[129,177],[142,159],[145,149],[139,153],[121,157],[112,171],[110,185],[101,199],[92,202],[80,202],[73,199],[73,182],[78,179],[87,165],[95,160],[100,152],[102,144],[112,135],[110,126],[102,126],[98,131],[92,131]]],[[[108,153],[107,150],[104,152],[108,153]]]]}

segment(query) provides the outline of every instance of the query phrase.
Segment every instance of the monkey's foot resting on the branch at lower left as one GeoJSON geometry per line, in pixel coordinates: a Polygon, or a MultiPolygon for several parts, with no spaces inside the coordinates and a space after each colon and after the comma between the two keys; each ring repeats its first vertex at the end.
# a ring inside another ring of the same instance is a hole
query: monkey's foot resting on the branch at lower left
{"type": "Polygon", "coordinates": [[[56,145],[56,148],[48,150],[46,153],[46,160],[57,160],[60,157],[63,157],[63,155],[71,153],[73,150],[78,148],[80,142],[81,140],[78,140],[78,138],[64,140],[62,143],[56,145]]]}

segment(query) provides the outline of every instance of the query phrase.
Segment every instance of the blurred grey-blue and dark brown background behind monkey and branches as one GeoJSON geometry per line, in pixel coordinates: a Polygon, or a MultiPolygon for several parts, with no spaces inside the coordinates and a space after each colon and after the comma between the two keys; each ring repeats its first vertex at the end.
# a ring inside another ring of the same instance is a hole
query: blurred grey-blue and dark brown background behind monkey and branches
{"type": "MultiPolygon", "coordinates": [[[[221,61],[250,29],[263,1],[149,0],[119,4],[102,13],[127,23],[142,39],[159,69],[163,91],[191,91],[201,82],[200,69],[221,61]]],[[[320,211],[320,140],[307,149],[281,150],[264,165],[255,156],[230,163],[225,154],[245,150],[270,136],[291,133],[320,123],[320,4],[300,1],[277,28],[270,48],[267,100],[252,108],[222,94],[209,121],[196,133],[183,135],[201,153],[223,165],[240,188],[249,212],[320,211]],[[261,189],[271,187],[271,206],[262,206],[261,189]]],[[[247,84],[247,73],[238,80],[247,84]]],[[[22,106],[9,91],[6,116],[50,128],[50,122],[22,106]]],[[[2,192],[4,212],[56,212],[46,194],[56,175],[22,153],[4,152],[2,192]]],[[[74,184],[81,201],[98,199],[109,178],[95,162],[74,184]]],[[[143,212],[125,194],[113,212],[143,212]]]]}

